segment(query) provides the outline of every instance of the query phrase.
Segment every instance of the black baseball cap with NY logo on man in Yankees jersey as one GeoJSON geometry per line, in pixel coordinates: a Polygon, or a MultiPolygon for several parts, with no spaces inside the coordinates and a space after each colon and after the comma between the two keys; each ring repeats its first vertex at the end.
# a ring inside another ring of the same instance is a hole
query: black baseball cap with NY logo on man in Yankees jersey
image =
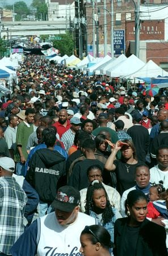
{"type": "Polygon", "coordinates": [[[79,191],[71,186],[64,186],[58,189],[52,207],[64,212],[72,212],[79,205],[81,195],[79,191]]]}

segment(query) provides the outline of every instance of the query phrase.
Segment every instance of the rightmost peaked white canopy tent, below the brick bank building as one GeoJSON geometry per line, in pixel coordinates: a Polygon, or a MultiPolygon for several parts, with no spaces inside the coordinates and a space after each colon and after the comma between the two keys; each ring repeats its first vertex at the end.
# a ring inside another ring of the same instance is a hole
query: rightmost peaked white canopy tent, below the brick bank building
{"type": "Polygon", "coordinates": [[[160,68],[153,60],[149,60],[144,67],[140,68],[135,73],[125,76],[124,78],[129,77],[158,77],[158,76],[168,76],[168,72],[160,68]]]}

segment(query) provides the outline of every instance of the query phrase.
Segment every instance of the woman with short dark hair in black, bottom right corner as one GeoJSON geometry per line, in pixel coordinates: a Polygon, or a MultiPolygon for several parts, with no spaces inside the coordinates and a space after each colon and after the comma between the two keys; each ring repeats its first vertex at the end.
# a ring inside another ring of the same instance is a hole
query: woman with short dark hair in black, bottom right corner
{"type": "Polygon", "coordinates": [[[114,256],[167,256],[165,228],[146,219],[147,204],[143,192],[128,193],[129,217],[114,226],[114,256]]]}

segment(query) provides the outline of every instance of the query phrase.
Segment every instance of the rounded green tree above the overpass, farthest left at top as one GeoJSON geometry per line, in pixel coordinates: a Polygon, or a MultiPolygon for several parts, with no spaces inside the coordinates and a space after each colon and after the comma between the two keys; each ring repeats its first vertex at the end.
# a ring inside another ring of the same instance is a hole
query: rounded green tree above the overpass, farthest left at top
{"type": "Polygon", "coordinates": [[[22,20],[22,17],[26,18],[28,14],[30,14],[30,9],[27,7],[26,3],[24,1],[18,1],[14,3],[13,5],[6,5],[5,8],[7,10],[14,10],[16,13],[15,20],[19,21],[22,20]]]}

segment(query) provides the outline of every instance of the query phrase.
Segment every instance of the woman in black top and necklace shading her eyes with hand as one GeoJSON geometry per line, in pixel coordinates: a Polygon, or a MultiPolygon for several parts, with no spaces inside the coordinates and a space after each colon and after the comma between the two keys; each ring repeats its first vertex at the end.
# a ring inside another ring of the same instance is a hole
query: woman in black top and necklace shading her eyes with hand
{"type": "MultiPolygon", "coordinates": [[[[108,144],[110,142],[108,141],[108,144]]],[[[108,157],[107,162],[104,166],[104,169],[107,171],[112,171],[116,173],[117,179],[117,191],[120,195],[123,195],[123,192],[134,185],[135,182],[135,169],[138,164],[136,156],[136,149],[132,141],[125,139],[124,141],[117,141],[114,147],[114,144],[111,144],[114,148],[111,151],[111,155],[108,157]],[[117,152],[121,150],[121,159],[115,160],[117,152]]]]}

